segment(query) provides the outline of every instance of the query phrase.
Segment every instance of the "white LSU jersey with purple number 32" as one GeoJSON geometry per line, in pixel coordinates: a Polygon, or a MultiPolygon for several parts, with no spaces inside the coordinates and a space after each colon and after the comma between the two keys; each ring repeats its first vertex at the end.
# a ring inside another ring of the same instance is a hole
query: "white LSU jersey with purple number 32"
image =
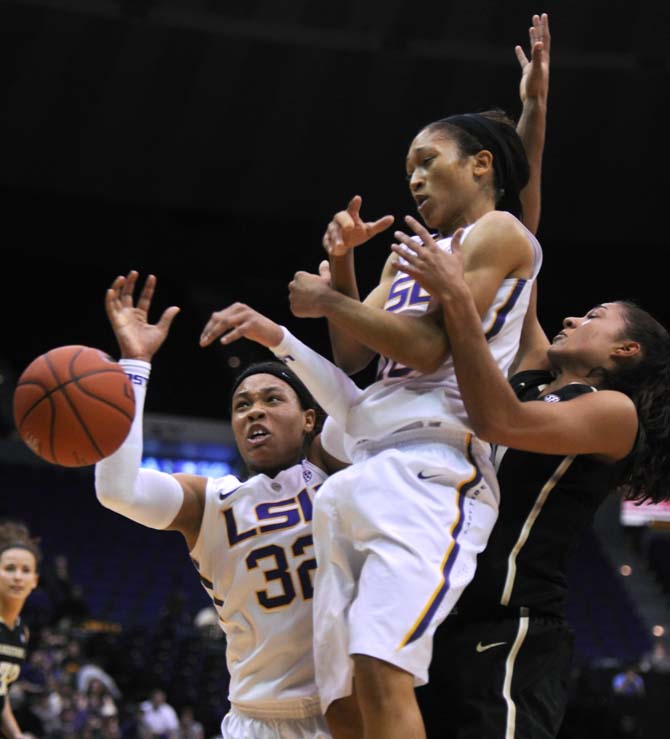
{"type": "Polygon", "coordinates": [[[190,554],[226,634],[231,704],[260,719],[320,713],[312,648],[312,504],[326,478],[303,460],[274,478],[207,481],[190,554]]]}

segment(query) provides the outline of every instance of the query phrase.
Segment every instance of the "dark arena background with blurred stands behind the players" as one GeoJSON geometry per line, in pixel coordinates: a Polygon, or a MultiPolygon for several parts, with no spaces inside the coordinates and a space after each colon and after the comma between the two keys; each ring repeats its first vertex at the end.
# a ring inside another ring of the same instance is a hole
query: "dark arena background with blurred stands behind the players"
{"type": "MultiPolygon", "coordinates": [[[[183,540],[103,509],[92,468],[48,465],[20,442],[11,400],[23,368],[63,344],[114,355],[105,290],[130,269],[152,272],[153,317],[182,312],[154,361],[144,463],[239,470],[231,380],[268,355],[247,341],[200,349],[210,313],[248,303],[329,355],[325,321],[290,313],[294,272],[316,270],[324,227],[352,195],[370,219],[414,212],[404,159],[423,124],[495,106],[518,116],[514,46],[528,48],[541,12],[552,55],[540,318],[552,335],[566,313],[632,298],[670,326],[668,7],[0,2],[0,516],[25,520],[45,550],[12,690],[25,733],[135,737],[140,704],[160,689],[211,739],[228,703],[225,640],[183,540]],[[85,665],[113,679],[103,709],[78,685],[85,665]]],[[[382,235],[360,248],[363,291],[388,247],[382,235]]],[[[575,554],[561,739],[667,736],[669,522],[667,509],[612,498],[575,554]],[[615,693],[628,669],[641,695],[615,693]]]]}

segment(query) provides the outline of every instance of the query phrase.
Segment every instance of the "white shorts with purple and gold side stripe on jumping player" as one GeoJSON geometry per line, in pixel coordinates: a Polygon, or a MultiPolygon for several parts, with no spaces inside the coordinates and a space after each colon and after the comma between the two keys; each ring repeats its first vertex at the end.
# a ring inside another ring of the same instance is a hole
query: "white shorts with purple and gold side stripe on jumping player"
{"type": "Polygon", "coordinates": [[[404,442],[332,475],[314,504],[316,683],[325,713],[364,654],[428,682],[433,634],[498,517],[489,446],[404,442]]]}

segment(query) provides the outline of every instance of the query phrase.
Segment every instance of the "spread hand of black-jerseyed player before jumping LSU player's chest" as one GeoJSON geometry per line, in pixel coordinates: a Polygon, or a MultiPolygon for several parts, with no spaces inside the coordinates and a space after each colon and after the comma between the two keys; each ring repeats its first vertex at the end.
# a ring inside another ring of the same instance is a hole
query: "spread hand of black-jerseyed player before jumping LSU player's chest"
{"type": "Polygon", "coordinates": [[[391,249],[398,255],[398,270],[413,277],[436,300],[453,297],[467,290],[461,252],[463,229],[459,228],[452,236],[450,254],[440,249],[435,239],[415,218],[406,216],[405,221],[421,242],[402,231],[395,232],[400,243],[393,244],[391,249]]]}

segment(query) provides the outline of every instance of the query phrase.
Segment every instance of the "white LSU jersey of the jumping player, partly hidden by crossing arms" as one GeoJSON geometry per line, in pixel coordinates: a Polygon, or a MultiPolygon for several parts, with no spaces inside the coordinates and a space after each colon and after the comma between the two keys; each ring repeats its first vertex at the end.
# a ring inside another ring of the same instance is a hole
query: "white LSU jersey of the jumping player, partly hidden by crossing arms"
{"type": "MultiPolygon", "coordinates": [[[[464,238],[473,228],[464,231],[464,238]]],[[[524,227],[525,228],[525,227],[524,227]]],[[[528,280],[503,280],[482,320],[482,326],[496,364],[507,374],[519,348],[521,328],[530,301],[533,282],[542,265],[542,248],[525,229],[533,250],[533,272],[528,280]]],[[[451,251],[451,237],[437,241],[451,251]]],[[[398,272],[391,284],[384,310],[420,315],[428,309],[431,296],[409,275],[398,272]]],[[[360,396],[347,417],[344,447],[349,454],[357,444],[378,441],[416,422],[428,425],[447,423],[469,429],[451,357],[431,374],[380,357],[377,379],[360,396]]]]}

